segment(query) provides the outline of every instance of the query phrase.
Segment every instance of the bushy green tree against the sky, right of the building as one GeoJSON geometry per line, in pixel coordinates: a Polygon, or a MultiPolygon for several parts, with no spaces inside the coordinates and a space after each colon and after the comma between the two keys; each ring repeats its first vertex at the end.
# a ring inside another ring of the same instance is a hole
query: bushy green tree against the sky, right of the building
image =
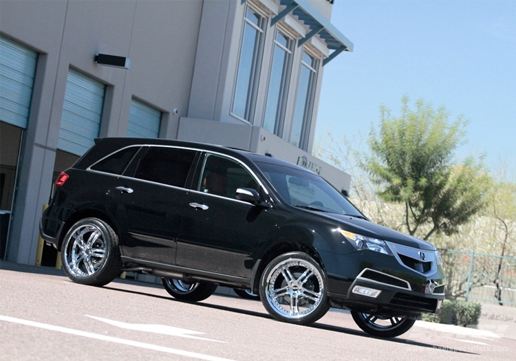
{"type": "Polygon", "coordinates": [[[454,163],[454,151],[464,141],[466,122],[449,122],[445,107],[424,100],[409,109],[402,98],[401,115],[380,108],[378,131],[369,133],[370,153],[361,166],[378,195],[402,204],[407,232],[429,239],[435,232],[453,234],[486,204],[489,177],[472,157],[454,163]]]}

